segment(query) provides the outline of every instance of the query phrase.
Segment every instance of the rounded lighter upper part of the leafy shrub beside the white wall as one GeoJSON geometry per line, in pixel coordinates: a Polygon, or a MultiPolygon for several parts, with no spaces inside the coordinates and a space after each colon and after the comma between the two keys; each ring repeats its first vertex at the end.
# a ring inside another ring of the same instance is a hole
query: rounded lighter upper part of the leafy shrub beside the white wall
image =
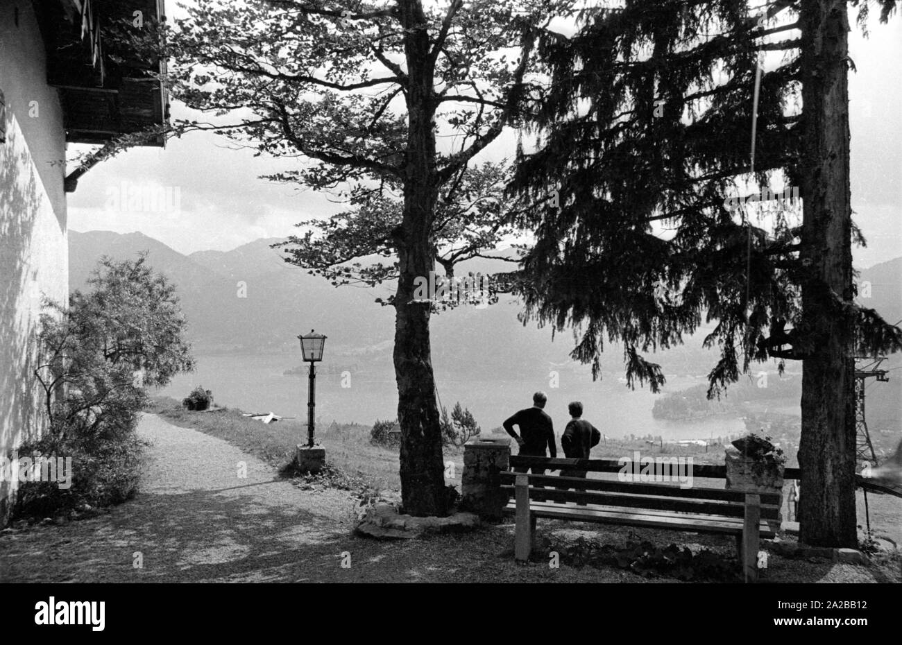
{"type": "Polygon", "coordinates": [[[51,432],[96,435],[129,432],[146,401],[145,388],[162,386],[194,368],[175,287],[136,261],[101,260],[74,291],[69,307],[48,302],[41,316],[41,364],[51,432]]]}

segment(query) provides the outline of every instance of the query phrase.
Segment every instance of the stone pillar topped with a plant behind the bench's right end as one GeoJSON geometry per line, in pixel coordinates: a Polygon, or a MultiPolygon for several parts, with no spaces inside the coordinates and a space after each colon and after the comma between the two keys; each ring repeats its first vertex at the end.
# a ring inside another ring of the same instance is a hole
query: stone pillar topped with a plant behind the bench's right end
{"type": "Polygon", "coordinates": [[[785,457],[756,435],[736,439],[726,448],[726,487],[744,493],[780,495],[778,520],[783,521],[783,470],[785,457]]]}

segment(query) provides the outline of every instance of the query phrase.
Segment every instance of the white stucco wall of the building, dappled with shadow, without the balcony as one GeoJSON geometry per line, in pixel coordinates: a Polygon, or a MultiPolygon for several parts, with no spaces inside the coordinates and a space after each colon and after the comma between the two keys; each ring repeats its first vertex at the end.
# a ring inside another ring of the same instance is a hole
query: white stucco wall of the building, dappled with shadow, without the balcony
{"type": "MultiPolygon", "coordinates": [[[[0,456],[46,428],[35,336],[46,296],[65,301],[69,244],[62,180],[65,134],[56,90],[47,85],[32,3],[0,0],[0,456]],[[18,24],[15,11],[18,7],[18,24]]],[[[0,482],[0,526],[14,484],[0,482]]]]}

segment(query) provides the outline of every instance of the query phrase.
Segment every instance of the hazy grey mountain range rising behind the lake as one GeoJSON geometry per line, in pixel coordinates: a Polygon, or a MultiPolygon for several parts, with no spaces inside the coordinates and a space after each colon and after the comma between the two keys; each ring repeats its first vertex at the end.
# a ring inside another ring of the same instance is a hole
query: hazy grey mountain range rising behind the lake
{"type": "MultiPolygon", "coordinates": [[[[387,288],[333,287],[285,263],[284,253],[271,246],[279,241],[259,239],[232,251],[185,255],[141,233],[71,231],[69,284],[73,290],[85,289],[101,256],[134,259],[146,252],[154,270],[177,285],[189,340],[198,355],[299,352],[297,336],[316,329],[328,336],[329,355],[336,360],[391,370],[394,310],[374,301],[384,298],[387,288]]],[[[476,259],[463,263],[458,275],[511,271],[511,266],[476,259]]],[[[902,258],[861,271],[862,304],[877,309],[889,322],[902,318],[900,277],[902,258]]],[[[537,364],[588,369],[568,357],[571,334],[553,339],[548,328],[524,326],[518,319],[520,310],[517,302],[502,300],[484,309],[460,307],[435,316],[432,355],[437,367],[500,379],[537,364]]],[[[653,360],[667,374],[707,373],[715,357],[701,346],[705,333],[706,329],[699,330],[686,345],[654,355],[653,360]]],[[[605,375],[622,376],[622,352],[616,346],[607,347],[602,367],[605,375]]]]}

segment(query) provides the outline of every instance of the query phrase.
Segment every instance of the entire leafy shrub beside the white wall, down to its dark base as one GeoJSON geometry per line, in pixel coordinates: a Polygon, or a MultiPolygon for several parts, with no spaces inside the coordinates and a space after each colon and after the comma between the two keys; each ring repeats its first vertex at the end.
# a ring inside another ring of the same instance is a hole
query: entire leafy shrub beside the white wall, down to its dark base
{"type": "Polygon", "coordinates": [[[71,457],[68,489],[28,482],[17,512],[57,512],[128,499],[138,484],[141,443],[134,436],[147,386],[193,368],[175,288],[136,261],[101,260],[87,294],[69,307],[47,302],[35,377],[50,417],[47,433],[20,456],[71,457]]]}

